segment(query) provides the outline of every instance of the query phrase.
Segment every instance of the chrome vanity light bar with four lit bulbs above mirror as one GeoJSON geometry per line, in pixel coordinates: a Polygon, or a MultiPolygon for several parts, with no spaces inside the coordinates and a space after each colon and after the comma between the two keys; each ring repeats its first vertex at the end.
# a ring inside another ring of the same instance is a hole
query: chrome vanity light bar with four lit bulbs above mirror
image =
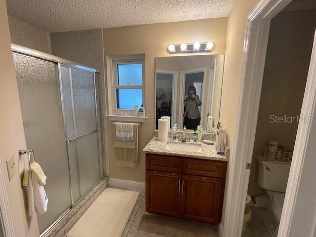
{"type": "Polygon", "coordinates": [[[170,44],[167,47],[169,53],[198,53],[198,52],[212,52],[215,49],[213,42],[204,43],[179,43],[170,44]]]}

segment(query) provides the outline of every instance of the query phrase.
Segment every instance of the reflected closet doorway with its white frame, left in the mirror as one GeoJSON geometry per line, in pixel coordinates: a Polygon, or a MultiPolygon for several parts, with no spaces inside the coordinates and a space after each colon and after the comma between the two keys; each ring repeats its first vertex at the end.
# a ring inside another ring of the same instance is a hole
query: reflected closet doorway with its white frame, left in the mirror
{"type": "Polygon", "coordinates": [[[156,129],[162,116],[170,117],[171,126],[176,123],[177,77],[178,72],[156,70],[156,129]]]}

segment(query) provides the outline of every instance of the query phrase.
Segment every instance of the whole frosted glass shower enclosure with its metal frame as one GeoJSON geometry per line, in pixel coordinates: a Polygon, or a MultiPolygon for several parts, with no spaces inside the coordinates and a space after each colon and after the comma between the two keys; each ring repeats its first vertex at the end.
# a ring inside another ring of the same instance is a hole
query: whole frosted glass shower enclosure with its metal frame
{"type": "Polygon", "coordinates": [[[47,232],[105,176],[98,71],[12,44],[28,149],[45,175],[47,232]]]}

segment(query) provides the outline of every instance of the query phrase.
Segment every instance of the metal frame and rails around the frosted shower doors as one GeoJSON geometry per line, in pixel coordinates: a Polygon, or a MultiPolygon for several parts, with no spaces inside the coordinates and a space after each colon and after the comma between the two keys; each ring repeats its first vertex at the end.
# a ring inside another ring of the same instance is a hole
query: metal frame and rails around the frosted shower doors
{"type": "MultiPolygon", "coordinates": [[[[43,53],[31,48],[27,48],[24,46],[20,46],[17,44],[11,44],[12,53],[20,54],[23,56],[35,58],[38,60],[43,60],[47,62],[55,63],[57,66],[57,75],[58,75],[58,83],[59,83],[59,92],[60,92],[60,100],[61,100],[61,110],[62,110],[62,117],[63,117],[63,127],[64,127],[64,138],[66,143],[66,152],[67,152],[67,162],[68,162],[68,172],[69,172],[69,187],[70,187],[70,197],[71,197],[71,206],[68,207],[46,230],[44,230],[40,237],[49,234],[49,232],[59,223],[62,218],[69,213],[69,211],[78,203],[87,193],[89,193],[98,183],[94,184],[82,197],[80,197],[76,202],[74,202],[73,190],[72,190],[72,182],[71,182],[71,173],[70,173],[70,158],[69,158],[69,151],[68,151],[68,144],[71,143],[73,140],[78,138],[84,137],[86,135],[97,133],[97,147],[98,147],[98,165],[99,165],[99,181],[101,181],[104,177],[106,177],[106,158],[105,158],[105,151],[103,151],[103,146],[100,144],[105,139],[102,139],[102,129],[104,128],[104,121],[101,119],[101,98],[100,98],[100,88],[99,82],[96,79],[96,75],[99,75],[100,72],[92,67],[88,67],[61,57],[57,57],[51,54],[43,53]],[[95,117],[96,117],[96,129],[94,131],[89,131],[87,133],[75,136],[71,139],[67,139],[66,136],[66,120],[64,114],[64,102],[63,102],[63,94],[62,94],[62,78],[61,78],[61,66],[66,66],[69,68],[76,68],[79,70],[84,70],[93,73],[93,83],[94,83],[94,98],[95,98],[95,117]]],[[[104,116],[104,115],[103,115],[104,116]]]]}

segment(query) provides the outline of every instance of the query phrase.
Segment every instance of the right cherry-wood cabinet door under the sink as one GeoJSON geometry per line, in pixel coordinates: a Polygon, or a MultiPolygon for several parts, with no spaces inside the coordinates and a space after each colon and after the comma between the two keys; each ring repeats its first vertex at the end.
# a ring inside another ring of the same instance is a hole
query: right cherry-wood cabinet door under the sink
{"type": "Polygon", "coordinates": [[[222,180],[182,175],[181,217],[212,224],[220,222],[222,180]]]}

